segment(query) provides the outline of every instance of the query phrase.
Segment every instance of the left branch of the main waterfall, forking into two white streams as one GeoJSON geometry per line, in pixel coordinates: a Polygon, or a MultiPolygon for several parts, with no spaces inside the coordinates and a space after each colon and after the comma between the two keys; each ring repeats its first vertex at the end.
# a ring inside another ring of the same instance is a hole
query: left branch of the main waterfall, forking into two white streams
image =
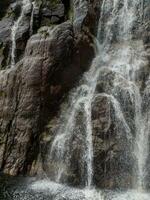
{"type": "MultiPolygon", "coordinates": [[[[99,47],[98,41],[95,40],[97,49],[99,47]]],[[[99,55],[99,49],[97,52],[99,55]]],[[[60,125],[60,129],[57,132],[57,135],[52,143],[50,151],[50,160],[57,158],[59,161],[65,160],[65,164],[69,163],[69,152],[68,146],[70,146],[71,139],[74,135],[74,129],[76,126],[76,117],[78,112],[82,110],[84,113],[84,129],[81,131],[85,132],[82,135],[85,135],[85,144],[82,144],[84,147],[83,160],[85,161],[84,165],[86,168],[85,172],[85,184],[87,187],[91,187],[92,178],[93,178],[93,143],[92,143],[92,122],[91,122],[91,103],[97,83],[98,78],[98,57],[95,58],[90,70],[85,73],[82,78],[82,84],[77,87],[73,93],[70,94],[70,109],[66,112],[62,112],[61,119],[63,123],[60,125]],[[68,157],[67,157],[68,156],[68,157]]],[[[77,134],[77,133],[76,133],[77,134]]],[[[61,177],[65,171],[65,166],[63,164],[58,167],[56,170],[55,181],[60,182],[61,177]]]]}

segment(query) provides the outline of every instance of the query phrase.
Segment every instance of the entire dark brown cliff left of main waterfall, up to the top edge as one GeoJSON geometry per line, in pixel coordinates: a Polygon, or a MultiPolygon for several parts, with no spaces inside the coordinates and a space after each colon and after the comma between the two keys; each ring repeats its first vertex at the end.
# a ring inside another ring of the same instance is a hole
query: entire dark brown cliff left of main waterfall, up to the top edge
{"type": "Polygon", "coordinates": [[[0,21],[0,169],[11,175],[34,168],[45,125],[94,56],[90,31],[76,33],[67,21],[73,14],[69,1],[35,1],[19,24],[17,64],[10,68],[11,28],[21,6],[7,1],[0,21]]]}

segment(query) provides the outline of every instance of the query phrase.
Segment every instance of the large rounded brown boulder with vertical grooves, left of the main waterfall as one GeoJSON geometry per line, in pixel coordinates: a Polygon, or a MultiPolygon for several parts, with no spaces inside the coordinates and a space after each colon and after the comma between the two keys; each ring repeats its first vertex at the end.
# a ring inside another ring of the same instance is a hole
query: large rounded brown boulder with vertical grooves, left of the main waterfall
{"type": "Polygon", "coordinates": [[[67,60],[71,54],[72,35],[69,22],[54,30],[40,30],[28,41],[24,59],[16,68],[1,72],[1,138],[5,146],[1,166],[6,173],[27,169],[37,153],[38,132],[49,114],[47,104],[57,94],[52,79],[68,64],[61,59],[67,60]]]}

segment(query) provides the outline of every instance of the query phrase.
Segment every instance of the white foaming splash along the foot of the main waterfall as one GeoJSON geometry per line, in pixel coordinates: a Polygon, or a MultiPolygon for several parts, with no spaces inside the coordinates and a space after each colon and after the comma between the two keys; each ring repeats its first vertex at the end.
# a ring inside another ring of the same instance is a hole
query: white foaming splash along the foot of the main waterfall
{"type": "MultiPolygon", "coordinates": [[[[48,192],[55,200],[149,200],[150,194],[129,190],[127,192],[96,191],[95,189],[77,189],[50,181],[38,181],[30,189],[48,192]]],[[[14,199],[15,200],[15,199],[14,199]]]]}

